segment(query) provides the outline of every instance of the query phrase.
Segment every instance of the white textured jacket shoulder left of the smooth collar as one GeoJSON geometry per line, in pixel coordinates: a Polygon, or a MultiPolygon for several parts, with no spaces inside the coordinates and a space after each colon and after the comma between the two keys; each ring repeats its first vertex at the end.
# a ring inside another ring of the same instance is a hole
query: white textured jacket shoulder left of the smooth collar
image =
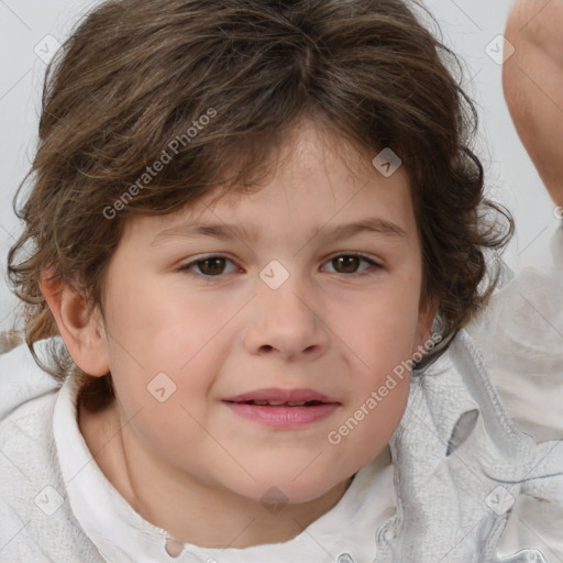
{"type": "Polygon", "coordinates": [[[67,510],[53,441],[56,390],[24,344],[0,356],[1,563],[102,561],[67,510]]]}

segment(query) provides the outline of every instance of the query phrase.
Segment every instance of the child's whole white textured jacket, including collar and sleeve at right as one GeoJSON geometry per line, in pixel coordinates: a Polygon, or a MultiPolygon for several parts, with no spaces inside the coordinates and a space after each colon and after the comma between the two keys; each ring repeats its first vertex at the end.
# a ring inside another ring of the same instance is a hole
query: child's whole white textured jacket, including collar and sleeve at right
{"type": "Polygon", "coordinates": [[[0,562],[563,561],[563,228],[553,251],[415,374],[388,449],[279,544],[168,555],[91,459],[73,382],[16,346],[0,356],[0,562]]]}

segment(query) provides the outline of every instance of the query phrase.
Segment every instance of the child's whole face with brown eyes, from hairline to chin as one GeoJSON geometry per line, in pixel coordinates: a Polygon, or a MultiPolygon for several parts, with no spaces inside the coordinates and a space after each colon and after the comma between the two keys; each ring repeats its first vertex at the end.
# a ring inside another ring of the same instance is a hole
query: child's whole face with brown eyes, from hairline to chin
{"type": "Polygon", "coordinates": [[[408,178],[402,168],[385,178],[368,162],[354,177],[317,135],[303,126],[261,191],[134,219],[112,257],[102,332],[112,408],[129,421],[129,448],[142,450],[146,471],[164,482],[256,500],[275,486],[289,501],[307,501],[372,461],[401,419],[410,374],[394,376],[385,397],[379,389],[432,321],[419,303],[408,178]],[[227,236],[161,233],[196,221],[227,236]],[[376,230],[332,236],[357,222],[376,230]],[[346,258],[354,252],[379,266],[346,258]],[[208,255],[221,260],[186,269],[208,255]],[[273,388],[310,389],[332,405],[227,402],[273,388]],[[340,431],[362,406],[354,429],[340,431]],[[283,422],[286,415],[297,420],[283,422]]]}

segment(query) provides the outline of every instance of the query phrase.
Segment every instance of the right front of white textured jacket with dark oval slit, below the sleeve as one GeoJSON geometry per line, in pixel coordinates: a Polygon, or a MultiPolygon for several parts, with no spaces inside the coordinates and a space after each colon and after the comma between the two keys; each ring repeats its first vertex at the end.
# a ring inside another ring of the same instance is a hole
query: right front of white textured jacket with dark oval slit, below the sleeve
{"type": "Polygon", "coordinates": [[[501,561],[498,539],[521,497],[538,501],[520,511],[521,529],[543,534],[550,514],[555,534],[523,545],[519,538],[512,549],[540,550],[525,550],[522,562],[560,561],[563,441],[537,444],[516,428],[465,331],[437,367],[440,372],[413,379],[405,417],[389,444],[397,515],[378,531],[377,561],[501,561]],[[468,412],[476,415],[473,430],[446,455],[450,438],[468,412]]]}

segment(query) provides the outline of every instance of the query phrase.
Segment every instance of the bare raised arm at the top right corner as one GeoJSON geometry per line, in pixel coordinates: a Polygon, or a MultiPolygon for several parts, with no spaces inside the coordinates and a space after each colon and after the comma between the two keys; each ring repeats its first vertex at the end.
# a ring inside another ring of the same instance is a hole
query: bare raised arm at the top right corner
{"type": "Polygon", "coordinates": [[[553,201],[563,206],[563,0],[519,0],[503,85],[516,130],[553,201]]]}

